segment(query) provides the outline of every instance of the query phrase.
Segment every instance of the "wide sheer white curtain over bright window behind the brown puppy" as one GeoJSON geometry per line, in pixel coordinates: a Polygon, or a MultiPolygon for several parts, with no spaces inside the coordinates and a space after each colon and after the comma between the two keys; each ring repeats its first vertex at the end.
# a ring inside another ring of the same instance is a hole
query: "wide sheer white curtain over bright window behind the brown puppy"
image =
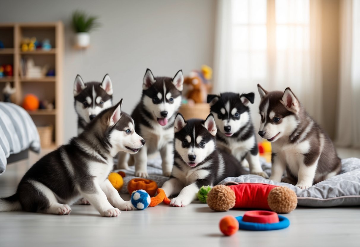
{"type": "Polygon", "coordinates": [[[291,87],[321,123],[321,16],[319,0],[219,0],[214,93],[291,87]]]}

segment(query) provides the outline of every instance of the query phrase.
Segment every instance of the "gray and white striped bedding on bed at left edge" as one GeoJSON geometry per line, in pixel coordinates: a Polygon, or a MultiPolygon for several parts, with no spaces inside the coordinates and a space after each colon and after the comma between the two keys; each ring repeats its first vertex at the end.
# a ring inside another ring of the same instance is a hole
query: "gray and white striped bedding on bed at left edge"
{"type": "Polygon", "coordinates": [[[20,106],[0,102],[0,175],[6,158],[30,148],[40,152],[40,138],[30,115],[20,106]]]}

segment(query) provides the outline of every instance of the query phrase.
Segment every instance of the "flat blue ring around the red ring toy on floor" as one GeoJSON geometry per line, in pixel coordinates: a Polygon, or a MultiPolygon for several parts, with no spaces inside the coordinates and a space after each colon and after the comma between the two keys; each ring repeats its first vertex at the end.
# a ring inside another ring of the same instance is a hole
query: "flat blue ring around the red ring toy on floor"
{"type": "Polygon", "coordinates": [[[243,216],[235,217],[239,222],[239,229],[251,230],[251,231],[270,231],[287,228],[290,225],[290,221],[287,217],[279,215],[278,223],[253,223],[243,221],[243,216]]]}

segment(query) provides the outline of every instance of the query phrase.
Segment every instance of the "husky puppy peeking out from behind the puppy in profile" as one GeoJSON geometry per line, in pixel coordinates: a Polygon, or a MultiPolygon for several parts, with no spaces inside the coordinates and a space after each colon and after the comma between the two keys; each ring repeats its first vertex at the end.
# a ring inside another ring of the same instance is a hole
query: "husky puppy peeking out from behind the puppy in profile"
{"type": "Polygon", "coordinates": [[[77,113],[77,134],[103,109],[112,106],[112,83],[108,74],[102,82],[86,82],[77,75],[74,82],[74,107],[77,113]]]}

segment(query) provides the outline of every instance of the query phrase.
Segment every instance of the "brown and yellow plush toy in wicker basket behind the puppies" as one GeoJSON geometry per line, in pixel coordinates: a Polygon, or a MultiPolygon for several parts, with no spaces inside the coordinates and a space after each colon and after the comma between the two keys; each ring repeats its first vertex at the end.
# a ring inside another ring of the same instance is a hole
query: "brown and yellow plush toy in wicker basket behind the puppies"
{"type": "Polygon", "coordinates": [[[208,91],[211,89],[209,81],[212,78],[212,69],[203,65],[201,71],[194,70],[184,78],[184,95],[195,103],[206,102],[208,91]]]}

